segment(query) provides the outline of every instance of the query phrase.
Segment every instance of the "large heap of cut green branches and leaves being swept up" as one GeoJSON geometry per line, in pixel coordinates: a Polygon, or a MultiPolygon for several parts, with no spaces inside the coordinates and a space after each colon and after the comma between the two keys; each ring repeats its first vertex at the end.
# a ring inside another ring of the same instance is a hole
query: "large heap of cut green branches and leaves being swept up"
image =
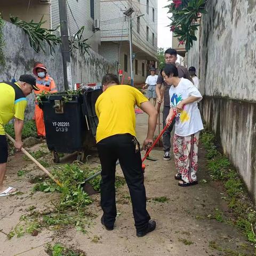
{"type": "MultiPolygon", "coordinates": [[[[37,211],[36,206],[30,206],[28,214],[22,215],[20,222],[7,234],[11,239],[13,236],[21,237],[24,234],[37,235],[42,228],[53,230],[66,229],[73,226],[77,231],[86,233],[90,225],[90,217],[87,205],[92,199],[83,190],[84,180],[100,170],[99,167],[90,169],[86,164],[76,163],[55,167],[52,174],[58,177],[62,186],[58,186],[51,179],[37,179],[35,191],[44,193],[58,192],[57,198],[51,200],[53,209],[37,211]]],[[[95,190],[100,188],[100,176],[91,181],[95,190]]]]}

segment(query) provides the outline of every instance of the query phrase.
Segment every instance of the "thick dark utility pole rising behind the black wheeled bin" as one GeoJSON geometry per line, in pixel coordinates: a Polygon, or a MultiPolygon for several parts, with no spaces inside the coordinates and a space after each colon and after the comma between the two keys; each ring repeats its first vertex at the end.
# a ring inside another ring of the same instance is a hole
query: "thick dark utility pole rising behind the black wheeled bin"
{"type": "Polygon", "coordinates": [[[63,61],[64,89],[72,89],[71,63],[68,44],[68,17],[66,0],[59,0],[61,53],[63,61]]]}

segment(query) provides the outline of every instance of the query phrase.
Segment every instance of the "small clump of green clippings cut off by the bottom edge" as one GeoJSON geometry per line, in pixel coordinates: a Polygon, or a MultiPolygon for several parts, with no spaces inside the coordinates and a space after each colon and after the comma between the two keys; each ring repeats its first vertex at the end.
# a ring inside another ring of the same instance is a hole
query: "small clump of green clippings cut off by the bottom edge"
{"type": "Polygon", "coordinates": [[[50,256],[86,256],[85,252],[76,249],[69,249],[62,244],[47,244],[45,252],[50,256]]]}

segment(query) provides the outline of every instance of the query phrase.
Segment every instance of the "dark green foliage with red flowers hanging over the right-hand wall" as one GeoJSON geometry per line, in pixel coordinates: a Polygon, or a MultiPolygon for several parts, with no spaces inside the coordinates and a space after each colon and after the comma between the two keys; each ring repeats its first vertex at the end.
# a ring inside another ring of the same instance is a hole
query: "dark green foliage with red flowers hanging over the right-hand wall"
{"type": "Polygon", "coordinates": [[[186,51],[193,46],[193,41],[199,24],[196,22],[201,18],[202,13],[206,13],[206,0],[169,0],[172,3],[167,5],[172,13],[171,31],[174,37],[178,37],[179,45],[185,44],[186,51]]]}

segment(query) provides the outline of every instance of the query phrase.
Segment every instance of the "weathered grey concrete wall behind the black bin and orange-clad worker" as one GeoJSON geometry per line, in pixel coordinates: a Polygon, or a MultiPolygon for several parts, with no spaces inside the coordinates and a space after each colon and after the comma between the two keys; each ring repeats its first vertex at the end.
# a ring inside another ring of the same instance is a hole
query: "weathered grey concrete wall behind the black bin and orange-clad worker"
{"type": "MultiPolygon", "coordinates": [[[[15,74],[18,79],[22,74],[31,74],[35,61],[45,63],[50,76],[57,84],[58,90],[63,88],[63,68],[60,47],[55,47],[55,53],[50,54],[46,48],[46,53],[36,53],[29,45],[28,36],[17,26],[10,22],[5,22],[5,67],[0,68],[1,81],[11,81],[15,74]],[[15,73],[16,70],[16,73],[15,73]]],[[[101,82],[102,76],[109,72],[116,71],[116,65],[109,62],[98,53],[90,51],[90,55],[85,55],[75,50],[71,54],[71,72],[73,83],[101,82]]],[[[34,95],[28,97],[28,107],[26,118],[33,117],[34,95]]]]}

